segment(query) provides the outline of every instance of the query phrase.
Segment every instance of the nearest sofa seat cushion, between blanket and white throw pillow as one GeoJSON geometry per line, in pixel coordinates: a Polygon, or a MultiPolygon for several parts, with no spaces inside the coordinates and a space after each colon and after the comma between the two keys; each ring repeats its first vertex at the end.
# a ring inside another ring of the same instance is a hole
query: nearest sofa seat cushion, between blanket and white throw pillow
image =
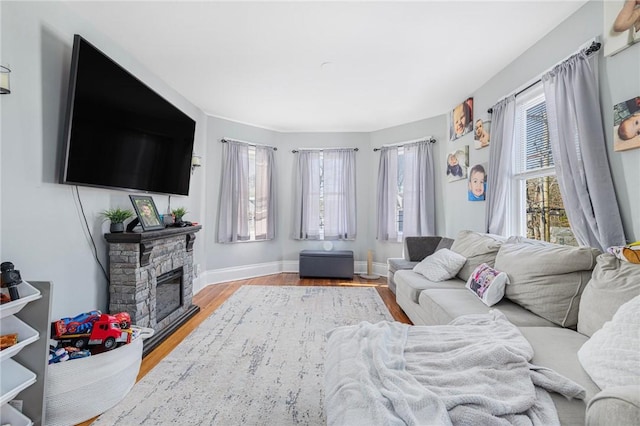
{"type": "Polygon", "coordinates": [[[558,394],[551,394],[558,409],[560,424],[584,425],[586,404],[600,392],[600,388],[578,362],[578,350],[589,338],[560,327],[520,327],[520,332],[533,347],[532,364],[551,368],[584,387],[584,401],[568,400],[558,394]]]}

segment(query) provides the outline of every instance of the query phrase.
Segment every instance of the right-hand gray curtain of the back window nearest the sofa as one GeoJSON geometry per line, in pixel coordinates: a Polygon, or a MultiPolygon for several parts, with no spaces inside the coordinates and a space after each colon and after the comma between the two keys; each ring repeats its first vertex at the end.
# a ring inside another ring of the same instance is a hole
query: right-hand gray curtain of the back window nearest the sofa
{"type": "Polygon", "coordinates": [[[433,144],[428,141],[404,145],[404,218],[402,234],[435,235],[435,176],[433,144]]]}

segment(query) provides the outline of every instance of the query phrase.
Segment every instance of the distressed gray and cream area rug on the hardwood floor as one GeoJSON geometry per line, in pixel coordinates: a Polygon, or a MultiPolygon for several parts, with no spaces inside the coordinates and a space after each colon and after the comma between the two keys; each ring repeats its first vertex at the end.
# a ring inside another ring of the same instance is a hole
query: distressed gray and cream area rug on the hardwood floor
{"type": "Polygon", "coordinates": [[[93,424],[324,425],[325,333],[382,320],[371,287],[243,286],[93,424]]]}

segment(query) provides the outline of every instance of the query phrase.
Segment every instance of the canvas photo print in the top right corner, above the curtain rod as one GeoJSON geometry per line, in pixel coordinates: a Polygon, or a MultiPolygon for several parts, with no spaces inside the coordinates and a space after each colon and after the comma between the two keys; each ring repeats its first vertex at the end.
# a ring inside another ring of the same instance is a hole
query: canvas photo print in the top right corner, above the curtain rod
{"type": "Polygon", "coordinates": [[[640,1],[607,0],[604,8],[604,56],[615,55],[640,42],[640,1]]]}

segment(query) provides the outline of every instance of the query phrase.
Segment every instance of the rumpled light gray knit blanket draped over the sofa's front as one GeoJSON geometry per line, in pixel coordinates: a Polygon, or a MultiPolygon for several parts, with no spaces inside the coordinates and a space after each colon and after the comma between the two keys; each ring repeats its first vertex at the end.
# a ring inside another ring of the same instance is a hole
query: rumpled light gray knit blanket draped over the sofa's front
{"type": "Polygon", "coordinates": [[[559,424],[547,391],[585,395],[530,364],[531,345],[497,310],[446,326],[362,322],[328,336],[328,425],[546,426],[559,424]]]}

